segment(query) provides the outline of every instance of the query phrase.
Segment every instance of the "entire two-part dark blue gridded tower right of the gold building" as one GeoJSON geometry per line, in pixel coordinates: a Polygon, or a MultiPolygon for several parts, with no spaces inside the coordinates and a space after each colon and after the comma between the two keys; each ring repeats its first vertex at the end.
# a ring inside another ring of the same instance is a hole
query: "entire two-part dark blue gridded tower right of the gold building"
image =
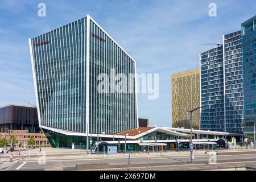
{"type": "Polygon", "coordinates": [[[241,31],[223,35],[223,44],[200,54],[201,129],[243,132],[241,31]]]}

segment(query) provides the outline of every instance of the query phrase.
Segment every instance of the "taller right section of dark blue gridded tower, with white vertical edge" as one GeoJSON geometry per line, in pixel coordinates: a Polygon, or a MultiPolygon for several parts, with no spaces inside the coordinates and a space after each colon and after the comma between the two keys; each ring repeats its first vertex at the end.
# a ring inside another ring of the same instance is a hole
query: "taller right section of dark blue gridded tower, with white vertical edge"
{"type": "Polygon", "coordinates": [[[243,68],[241,31],[223,36],[225,131],[243,132],[243,68]]]}

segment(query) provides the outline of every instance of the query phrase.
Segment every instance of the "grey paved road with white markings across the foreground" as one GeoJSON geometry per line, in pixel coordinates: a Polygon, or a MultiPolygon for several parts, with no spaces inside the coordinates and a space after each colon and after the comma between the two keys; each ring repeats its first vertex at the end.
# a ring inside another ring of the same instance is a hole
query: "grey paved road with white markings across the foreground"
{"type": "MultiPolygon", "coordinates": [[[[219,169],[225,167],[240,167],[251,165],[256,167],[256,155],[225,155],[217,156],[217,164],[209,165],[209,155],[196,155],[193,164],[190,163],[189,156],[134,156],[131,158],[131,170],[203,170],[219,169]]],[[[47,168],[75,167],[76,164],[102,164],[108,163],[112,170],[126,170],[127,157],[115,157],[105,159],[85,159],[80,156],[60,156],[31,159],[18,159],[5,170],[44,170],[47,168]],[[44,163],[45,162],[45,163],[44,163]]]]}

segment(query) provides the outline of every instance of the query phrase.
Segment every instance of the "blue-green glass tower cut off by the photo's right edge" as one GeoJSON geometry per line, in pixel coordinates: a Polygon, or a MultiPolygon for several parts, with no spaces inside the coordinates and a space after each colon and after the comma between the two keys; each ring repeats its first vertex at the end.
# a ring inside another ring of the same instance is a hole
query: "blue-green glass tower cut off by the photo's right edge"
{"type": "Polygon", "coordinates": [[[256,122],[256,16],[242,23],[243,97],[246,134],[256,122]]]}

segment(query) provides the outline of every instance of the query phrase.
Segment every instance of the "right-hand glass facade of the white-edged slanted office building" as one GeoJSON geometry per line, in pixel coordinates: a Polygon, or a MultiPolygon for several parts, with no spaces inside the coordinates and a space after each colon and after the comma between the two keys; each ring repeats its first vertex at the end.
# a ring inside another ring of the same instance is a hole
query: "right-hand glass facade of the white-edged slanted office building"
{"type": "Polygon", "coordinates": [[[137,127],[134,79],[124,85],[126,88],[130,86],[132,93],[97,93],[97,76],[106,73],[109,80],[114,81],[112,71],[115,75],[124,74],[129,77],[129,74],[135,73],[135,62],[90,20],[90,133],[115,134],[137,127]]]}

